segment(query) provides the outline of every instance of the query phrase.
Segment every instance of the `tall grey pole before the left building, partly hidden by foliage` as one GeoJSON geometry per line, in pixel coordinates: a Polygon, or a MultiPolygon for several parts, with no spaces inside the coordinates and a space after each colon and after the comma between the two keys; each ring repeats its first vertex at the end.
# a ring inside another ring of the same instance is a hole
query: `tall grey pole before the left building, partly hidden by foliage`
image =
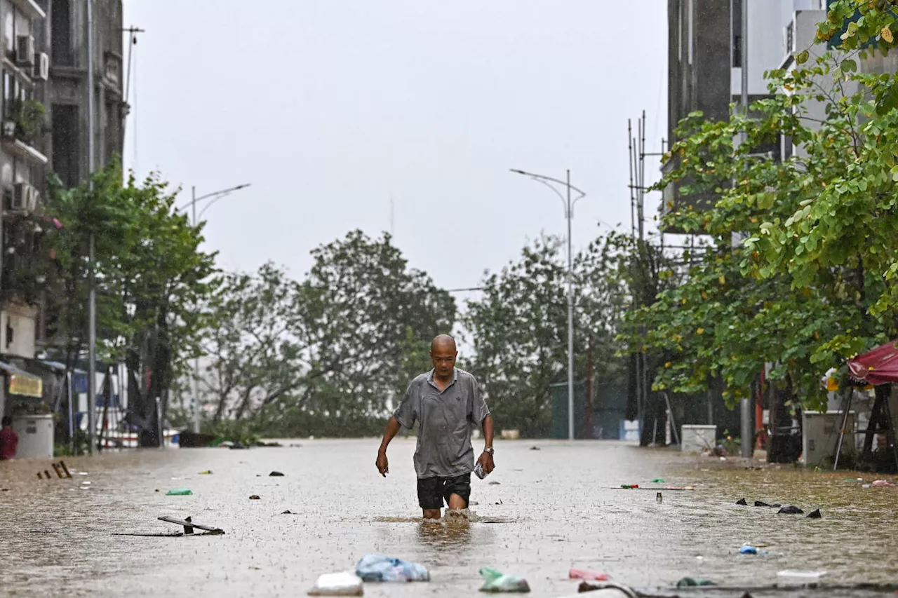
{"type": "MultiPolygon", "coordinates": [[[[87,4],[86,22],[87,22],[87,180],[88,189],[93,193],[93,0],[84,0],[87,4]]],[[[96,434],[97,434],[97,290],[96,281],[94,280],[94,268],[96,268],[96,257],[94,255],[94,234],[91,232],[88,241],[88,261],[89,272],[87,279],[87,318],[88,318],[88,339],[87,339],[87,437],[91,444],[91,454],[96,451],[96,434]]]]}

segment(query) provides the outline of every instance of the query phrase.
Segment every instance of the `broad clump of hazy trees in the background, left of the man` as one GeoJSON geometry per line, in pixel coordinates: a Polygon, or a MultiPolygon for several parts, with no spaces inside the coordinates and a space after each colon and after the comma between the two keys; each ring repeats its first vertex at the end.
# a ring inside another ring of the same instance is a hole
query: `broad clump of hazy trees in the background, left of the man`
{"type": "Polygon", "coordinates": [[[353,231],[313,251],[302,281],[266,265],[231,275],[213,302],[204,384],[214,419],[270,435],[367,435],[429,369],[430,340],[453,329],[453,298],[389,235],[353,231]]]}

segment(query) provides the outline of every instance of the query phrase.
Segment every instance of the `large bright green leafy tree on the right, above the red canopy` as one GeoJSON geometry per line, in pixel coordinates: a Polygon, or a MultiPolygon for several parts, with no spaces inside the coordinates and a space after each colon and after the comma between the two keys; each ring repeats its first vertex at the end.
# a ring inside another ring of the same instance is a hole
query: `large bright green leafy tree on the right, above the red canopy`
{"type": "MultiPolygon", "coordinates": [[[[858,3],[834,4],[830,25],[844,24],[849,5],[858,3]]],[[[848,24],[846,41],[869,22],[848,24]]],[[[682,123],[667,156],[676,167],[661,186],[689,180],[683,192],[718,201],[669,222],[708,234],[714,249],[686,284],[634,316],[649,324],[647,345],[672,356],[657,388],[698,390],[718,378],[735,399],[773,363],[771,379],[815,407],[827,369],[898,333],[895,76],[858,72],[860,53],[821,53],[808,65],[802,52],[805,66],[770,73],[772,96],[754,103],[752,118],[682,123]],[[780,138],[795,155],[757,154],[780,138]]]]}

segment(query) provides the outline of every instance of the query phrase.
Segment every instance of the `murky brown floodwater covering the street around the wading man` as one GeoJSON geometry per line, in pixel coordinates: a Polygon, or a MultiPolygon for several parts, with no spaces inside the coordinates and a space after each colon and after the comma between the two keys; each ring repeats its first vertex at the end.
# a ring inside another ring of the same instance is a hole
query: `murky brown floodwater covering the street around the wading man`
{"type": "Polygon", "coordinates": [[[441,525],[417,519],[413,439],[393,441],[387,479],[374,468],[377,440],[284,442],[69,458],[86,471],[74,479],[37,479],[49,461],[0,462],[0,594],[301,596],[371,552],[430,569],[429,584],[365,585],[398,598],[476,595],[480,567],[525,576],[533,596],[575,594],[570,567],[639,587],[683,576],[772,585],[782,569],[825,569],[837,584],[898,580],[898,487],[861,488],[846,472],[753,470],[608,441],[497,441],[497,470],[471,481],[483,521],[441,525]],[[612,488],[621,484],[696,489],[665,490],[658,503],[655,491],[612,488]],[[193,495],[165,496],[171,488],[193,495]],[[741,497],[819,507],[823,519],[735,506],[741,497]],[[161,515],[226,533],[112,535],[178,530],[161,515]],[[770,554],[741,555],[744,542],[770,554]]]}

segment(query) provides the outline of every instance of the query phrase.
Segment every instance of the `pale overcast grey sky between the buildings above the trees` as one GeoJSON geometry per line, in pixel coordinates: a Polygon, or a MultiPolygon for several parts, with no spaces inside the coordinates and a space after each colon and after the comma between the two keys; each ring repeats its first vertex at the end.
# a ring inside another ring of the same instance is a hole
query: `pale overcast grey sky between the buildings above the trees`
{"type": "Polygon", "coordinates": [[[125,0],[125,26],[146,30],[126,165],[185,201],[252,183],[205,215],[223,268],[301,277],[319,244],[389,230],[393,198],[410,264],[477,286],[566,232],[559,199],[509,168],[571,169],[588,194],[575,249],[599,219],[629,230],[627,119],[647,111],[650,151],[666,128],[666,3],[637,5],[125,0]]]}

